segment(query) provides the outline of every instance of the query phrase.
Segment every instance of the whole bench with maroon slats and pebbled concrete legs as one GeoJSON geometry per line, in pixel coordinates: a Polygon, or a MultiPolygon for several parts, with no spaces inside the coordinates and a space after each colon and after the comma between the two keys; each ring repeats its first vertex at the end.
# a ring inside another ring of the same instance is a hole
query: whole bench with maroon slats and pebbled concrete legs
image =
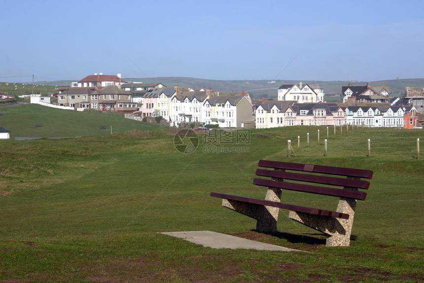
{"type": "Polygon", "coordinates": [[[256,231],[276,232],[280,208],[289,210],[289,218],[329,236],[327,246],[349,246],[356,200],[365,200],[370,170],[334,166],[260,160],[253,184],[268,187],[265,200],[211,193],[222,198],[222,206],[257,220],[256,231]],[[294,182],[287,182],[294,181],[294,182]],[[281,202],[282,190],[339,197],[335,211],[281,202]]]}

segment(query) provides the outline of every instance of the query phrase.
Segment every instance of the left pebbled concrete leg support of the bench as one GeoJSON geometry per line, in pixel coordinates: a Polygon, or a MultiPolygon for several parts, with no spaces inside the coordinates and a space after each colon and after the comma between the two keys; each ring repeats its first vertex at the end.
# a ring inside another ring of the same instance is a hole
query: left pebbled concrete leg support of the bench
{"type": "MultiPolygon", "coordinates": [[[[281,189],[269,188],[265,200],[281,201],[281,189]]],[[[277,232],[278,207],[222,199],[222,206],[256,219],[256,231],[277,232]]]]}

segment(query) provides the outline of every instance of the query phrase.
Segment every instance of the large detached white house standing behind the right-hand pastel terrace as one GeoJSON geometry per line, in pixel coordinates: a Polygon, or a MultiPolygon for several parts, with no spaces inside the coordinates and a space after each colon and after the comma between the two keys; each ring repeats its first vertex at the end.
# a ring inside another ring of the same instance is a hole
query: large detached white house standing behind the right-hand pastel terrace
{"type": "Polygon", "coordinates": [[[324,90],[318,83],[283,84],[278,89],[278,101],[296,101],[297,103],[318,103],[324,101],[324,90]]]}

